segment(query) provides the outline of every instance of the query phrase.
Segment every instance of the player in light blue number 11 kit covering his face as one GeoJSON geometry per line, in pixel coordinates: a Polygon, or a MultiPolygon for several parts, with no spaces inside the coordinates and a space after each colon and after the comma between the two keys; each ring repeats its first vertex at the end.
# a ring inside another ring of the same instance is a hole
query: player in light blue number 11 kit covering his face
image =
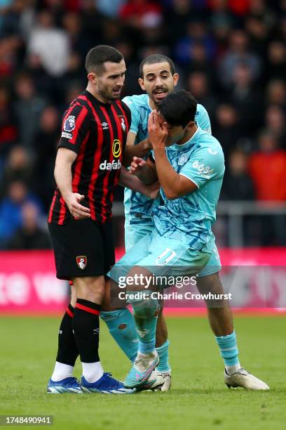
{"type": "MultiPolygon", "coordinates": [[[[159,110],[160,117],[156,111],[149,116],[149,139],[156,165],[150,159],[146,162],[135,157],[131,170],[146,183],[160,181],[163,204],[153,208],[155,228],[152,233],[132,247],[111,270],[111,278],[115,281],[118,275],[126,275],[124,271],[128,266],[135,266],[128,273],[133,278],[142,273],[151,276],[150,267],[155,275],[170,269],[172,275],[191,275],[197,268],[206,266],[213,253],[211,226],[224,176],[222,148],[194,122],[196,100],[186,91],[170,93],[159,110]]],[[[128,387],[144,384],[158,362],[154,348],[158,301],[150,291],[146,294],[144,285],[140,288],[145,292],[143,299],[135,296],[136,285],[129,292],[139,333],[139,351],[125,379],[128,387]]],[[[216,308],[216,311],[219,314],[225,308],[231,312],[229,306],[216,308]]],[[[231,330],[231,324],[232,320],[229,327],[222,330],[231,330]]],[[[268,389],[264,382],[240,367],[234,331],[216,339],[224,358],[228,386],[268,389]]]]}

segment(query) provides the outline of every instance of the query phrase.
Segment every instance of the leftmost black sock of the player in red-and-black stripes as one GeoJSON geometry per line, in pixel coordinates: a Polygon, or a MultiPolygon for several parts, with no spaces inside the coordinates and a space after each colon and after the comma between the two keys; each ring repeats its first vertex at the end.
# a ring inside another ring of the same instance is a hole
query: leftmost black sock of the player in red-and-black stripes
{"type": "MultiPolygon", "coordinates": [[[[74,339],[74,332],[72,331],[72,318],[74,317],[74,308],[69,304],[64,313],[62,322],[60,323],[60,330],[58,334],[57,346],[57,362],[64,363],[74,367],[76,358],[79,356],[79,350],[76,346],[76,339],[74,339]]],[[[57,379],[59,380],[59,379],[57,379]]]]}

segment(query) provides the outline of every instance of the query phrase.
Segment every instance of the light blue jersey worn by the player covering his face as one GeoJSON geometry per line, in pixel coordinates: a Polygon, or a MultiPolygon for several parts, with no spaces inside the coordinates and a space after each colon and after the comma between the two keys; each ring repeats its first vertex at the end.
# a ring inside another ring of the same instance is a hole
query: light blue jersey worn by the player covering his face
{"type": "Polygon", "coordinates": [[[212,252],[212,224],[224,176],[224,152],[216,138],[198,127],[182,145],[171,145],[166,153],[172,168],[189,178],[196,191],[168,200],[161,189],[163,205],[154,207],[153,220],[158,233],[184,242],[193,249],[212,252]]]}

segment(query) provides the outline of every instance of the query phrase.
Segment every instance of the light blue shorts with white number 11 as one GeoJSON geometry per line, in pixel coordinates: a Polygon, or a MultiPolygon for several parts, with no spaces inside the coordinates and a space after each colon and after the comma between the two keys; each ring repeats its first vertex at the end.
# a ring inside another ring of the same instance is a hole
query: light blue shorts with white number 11
{"type": "Polygon", "coordinates": [[[196,275],[209,259],[209,253],[189,248],[179,240],[161,236],[154,229],[129,249],[108,275],[118,282],[134,266],[146,268],[156,276],[196,275]]]}

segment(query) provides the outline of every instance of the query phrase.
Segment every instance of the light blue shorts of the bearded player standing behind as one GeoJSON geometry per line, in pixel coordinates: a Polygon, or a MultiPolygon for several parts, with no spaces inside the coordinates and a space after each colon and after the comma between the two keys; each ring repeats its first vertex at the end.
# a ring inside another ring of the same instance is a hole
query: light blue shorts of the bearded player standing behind
{"type": "MultiPolygon", "coordinates": [[[[132,247],[142,240],[143,237],[151,234],[154,230],[154,223],[151,219],[130,219],[129,216],[125,218],[125,251],[128,252],[132,247]]],[[[205,267],[198,273],[198,277],[212,275],[222,269],[219,258],[217,245],[213,237],[210,245],[212,254],[205,267]]],[[[143,257],[142,257],[143,258],[143,257]]]]}

